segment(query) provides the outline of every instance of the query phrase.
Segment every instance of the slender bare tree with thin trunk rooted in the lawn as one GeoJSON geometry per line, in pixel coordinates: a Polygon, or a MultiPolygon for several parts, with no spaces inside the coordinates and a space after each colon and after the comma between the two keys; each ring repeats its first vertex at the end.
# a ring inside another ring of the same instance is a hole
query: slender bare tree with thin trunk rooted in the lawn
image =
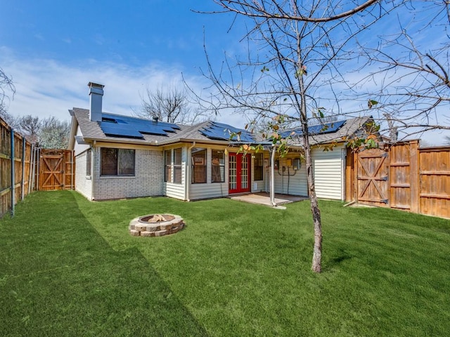
{"type": "MultiPolygon", "coordinates": [[[[249,27],[243,41],[248,46],[244,60],[226,59],[216,71],[208,58],[205,76],[218,94],[209,102],[212,109],[230,109],[248,116],[250,124],[269,118],[274,143],[283,139],[279,124],[297,121],[307,169],[314,249],[311,269],[321,272],[321,212],[316,197],[308,124],[342,113],[338,95],[349,88],[345,74],[354,63],[349,43],[365,29],[398,6],[382,7],[379,1],[214,1],[222,11],[242,16],[249,27]],[[374,7],[376,4],[376,8],[374,7]],[[324,107],[336,105],[336,111],[324,107]]],[[[206,53],[207,54],[207,53],[206,53]]]]}

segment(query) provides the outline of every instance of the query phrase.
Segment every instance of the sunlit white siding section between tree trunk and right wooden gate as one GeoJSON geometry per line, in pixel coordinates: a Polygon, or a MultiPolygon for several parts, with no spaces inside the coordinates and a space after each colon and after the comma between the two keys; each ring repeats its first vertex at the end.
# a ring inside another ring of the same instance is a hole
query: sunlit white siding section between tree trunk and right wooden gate
{"type": "Polygon", "coordinates": [[[324,199],[345,199],[342,192],[345,184],[345,157],[342,155],[344,145],[338,145],[332,151],[323,151],[322,148],[312,150],[314,166],[314,183],[316,194],[324,199]]]}

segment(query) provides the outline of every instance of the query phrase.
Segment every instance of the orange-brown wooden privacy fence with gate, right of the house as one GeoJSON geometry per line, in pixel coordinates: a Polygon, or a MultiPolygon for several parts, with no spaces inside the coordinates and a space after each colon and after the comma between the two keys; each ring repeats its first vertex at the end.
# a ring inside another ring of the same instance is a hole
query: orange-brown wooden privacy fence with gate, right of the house
{"type": "Polygon", "coordinates": [[[349,153],[347,201],[450,218],[450,147],[418,145],[349,153]]]}

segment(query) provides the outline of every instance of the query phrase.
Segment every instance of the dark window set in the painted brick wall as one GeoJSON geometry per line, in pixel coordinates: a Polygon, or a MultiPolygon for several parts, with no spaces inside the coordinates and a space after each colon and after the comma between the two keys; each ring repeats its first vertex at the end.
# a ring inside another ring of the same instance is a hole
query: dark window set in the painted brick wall
{"type": "Polygon", "coordinates": [[[134,150],[101,149],[101,176],[134,176],[134,150]]]}

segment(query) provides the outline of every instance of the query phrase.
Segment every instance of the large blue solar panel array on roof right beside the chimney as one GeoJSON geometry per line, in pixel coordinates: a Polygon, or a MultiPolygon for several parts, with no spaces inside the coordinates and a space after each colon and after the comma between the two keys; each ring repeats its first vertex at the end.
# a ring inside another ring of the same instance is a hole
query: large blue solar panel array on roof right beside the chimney
{"type": "Polygon", "coordinates": [[[179,130],[176,124],[156,122],[114,114],[102,114],[101,129],[108,136],[143,138],[143,134],[167,136],[167,132],[179,130]]]}

